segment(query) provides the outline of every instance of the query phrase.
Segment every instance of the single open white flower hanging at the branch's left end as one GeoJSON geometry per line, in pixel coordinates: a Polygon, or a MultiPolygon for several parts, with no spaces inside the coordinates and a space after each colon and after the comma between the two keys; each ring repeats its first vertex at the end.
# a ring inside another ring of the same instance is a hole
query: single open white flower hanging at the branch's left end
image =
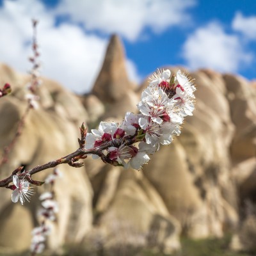
{"type": "Polygon", "coordinates": [[[20,180],[17,175],[13,175],[13,184],[16,187],[12,193],[12,202],[17,203],[20,200],[20,203],[23,205],[24,200],[28,202],[31,198],[31,195],[34,195],[33,189],[29,187],[28,180],[20,180]]]}

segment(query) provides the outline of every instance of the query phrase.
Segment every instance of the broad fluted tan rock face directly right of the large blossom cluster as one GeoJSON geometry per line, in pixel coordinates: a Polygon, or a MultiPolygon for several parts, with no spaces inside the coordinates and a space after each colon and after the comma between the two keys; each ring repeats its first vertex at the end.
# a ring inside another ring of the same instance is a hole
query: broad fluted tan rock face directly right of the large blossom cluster
{"type": "Polygon", "coordinates": [[[152,156],[144,173],[181,223],[184,234],[222,236],[238,221],[229,161],[235,127],[222,76],[199,70],[191,77],[198,88],[196,111],[173,144],[152,156]]]}

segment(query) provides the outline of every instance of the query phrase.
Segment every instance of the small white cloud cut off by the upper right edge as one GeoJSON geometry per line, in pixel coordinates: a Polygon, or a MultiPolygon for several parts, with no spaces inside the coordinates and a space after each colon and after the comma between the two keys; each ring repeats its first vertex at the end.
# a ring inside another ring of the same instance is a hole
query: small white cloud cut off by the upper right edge
{"type": "Polygon", "coordinates": [[[246,38],[256,40],[256,16],[244,17],[242,13],[237,12],[232,21],[232,28],[241,32],[246,38]]]}

